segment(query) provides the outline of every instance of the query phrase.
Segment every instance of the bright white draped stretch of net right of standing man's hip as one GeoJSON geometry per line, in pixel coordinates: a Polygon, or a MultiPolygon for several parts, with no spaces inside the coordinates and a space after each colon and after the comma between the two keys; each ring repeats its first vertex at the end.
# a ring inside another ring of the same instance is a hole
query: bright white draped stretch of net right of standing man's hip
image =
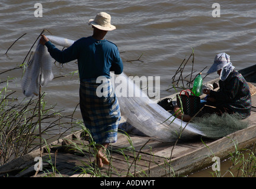
{"type": "Polygon", "coordinates": [[[175,119],[171,113],[149,99],[125,73],[116,77],[122,78],[121,87],[118,90],[117,84],[115,84],[115,92],[119,99],[121,115],[140,132],[165,142],[175,141],[178,136],[181,136],[181,139],[191,139],[202,134],[197,129],[191,127],[190,123],[187,124],[180,119],[175,119]],[[130,91],[134,93],[131,94],[129,93],[130,91]],[[180,135],[183,128],[185,129],[180,135]]]}

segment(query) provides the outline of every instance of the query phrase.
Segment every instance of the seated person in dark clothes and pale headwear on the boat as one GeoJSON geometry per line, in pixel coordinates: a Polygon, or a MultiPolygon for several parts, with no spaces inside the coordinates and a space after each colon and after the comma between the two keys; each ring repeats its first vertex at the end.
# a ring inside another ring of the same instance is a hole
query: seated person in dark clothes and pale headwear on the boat
{"type": "MultiPolygon", "coordinates": [[[[206,106],[196,116],[201,117],[209,113],[217,115],[238,113],[241,119],[245,119],[251,115],[251,93],[248,83],[242,74],[233,70],[234,68],[228,54],[216,55],[215,61],[207,73],[217,71],[220,76],[220,89],[217,92],[209,89],[203,90],[204,94],[208,94],[206,106]]],[[[181,115],[179,107],[175,107],[174,110],[178,119],[183,119],[185,122],[191,119],[190,115],[181,115]]]]}

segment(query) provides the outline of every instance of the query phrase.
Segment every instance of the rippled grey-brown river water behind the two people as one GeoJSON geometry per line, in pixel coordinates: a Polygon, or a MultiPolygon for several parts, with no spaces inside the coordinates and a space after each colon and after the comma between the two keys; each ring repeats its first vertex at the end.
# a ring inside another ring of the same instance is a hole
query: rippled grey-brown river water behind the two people
{"type": "MultiPolygon", "coordinates": [[[[255,1],[222,1],[219,6],[213,6],[215,3],[202,0],[1,0],[0,72],[22,63],[43,29],[53,35],[77,40],[92,34],[88,20],[104,11],[111,15],[111,23],[117,28],[108,32],[105,38],[119,47],[124,72],[129,76],[160,76],[161,90],[157,95],[168,96],[174,93],[174,90],[167,90],[171,86],[171,78],[183,59],[190,56],[192,48],[194,70],[198,73],[208,67],[203,76],[217,53],[228,53],[237,70],[255,64],[255,1]],[[34,7],[37,3],[42,5],[42,17],[35,16],[40,13],[40,7],[34,7]],[[5,55],[10,45],[25,33],[5,55]],[[141,61],[127,61],[139,57],[141,61]]],[[[191,70],[191,62],[187,67],[191,70]]],[[[63,66],[54,64],[55,77],[65,77],[54,79],[43,87],[47,102],[56,103],[57,109],[68,113],[73,112],[79,102],[76,70],[75,61],[63,66]]],[[[17,91],[18,99],[24,98],[20,87],[22,74],[22,69],[0,74],[1,82],[7,77],[13,78],[9,89],[17,91]]],[[[211,74],[204,80],[212,80],[216,76],[211,74]]],[[[0,87],[4,86],[5,83],[0,87]]],[[[79,110],[75,116],[81,119],[79,110]]]]}

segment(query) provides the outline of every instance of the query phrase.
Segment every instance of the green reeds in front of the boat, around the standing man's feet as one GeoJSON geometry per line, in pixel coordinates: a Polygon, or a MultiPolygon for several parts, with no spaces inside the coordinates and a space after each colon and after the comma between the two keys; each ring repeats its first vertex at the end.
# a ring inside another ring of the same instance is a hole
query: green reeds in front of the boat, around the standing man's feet
{"type": "MultiPolygon", "coordinates": [[[[143,171],[137,165],[137,162],[141,161],[142,155],[140,152],[142,149],[148,144],[147,141],[137,152],[132,144],[132,139],[130,136],[123,131],[120,131],[123,135],[127,137],[127,141],[130,143],[130,146],[126,148],[113,148],[113,146],[109,146],[105,150],[105,155],[108,159],[110,159],[110,165],[107,166],[105,169],[101,169],[97,166],[95,159],[97,154],[97,146],[92,139],[92,136],[87,128],[85,128],[84,124],[81,122],[80,124],[82,129],[81,139],[65,139],[65,142],[62,142],[62,146],[59,149],[65,149],[67,153],[76,154],[79,156],[84,157],[84,160],[81,161],[81,165],[73,167],[73,174],[79,175],[87,175],[88,177],[112,177],[114,175],[118,175],[119,177],[149,177],[150,174],[143,171]],[[115,165],[113,165],[112,159],[113,157],[111,154],[113,152],[119,153],[123,155],[124,161],[127,162],[127,172],[119,172],[115,165]]],[[[47,144],[46,144],[47,146],[47,144]]],[[[53,151],[50,150],[49,146],[46,147],[46,151],[48,152],[48,158],[44,157],[44,163],[48,164],[47,167],[43,168],[43,174],[40,174],[40,177],[56,177],[55,172],[57,172],[58,177],[63,177],[60,172],[56,168],[56,152],[55,158],[52,157],[53,151]],[[53,160],[54,159],[54,160],[53,160]]],[[[153,159],[152,159],[153,162],[153,159]]],[[[151,162],[150,162],[151,163],[151,162]]],[[[149,163],[149,167],[150,167],[149,163]]],[[[150,168],[149,171],[150,172],[150,168]]]]}

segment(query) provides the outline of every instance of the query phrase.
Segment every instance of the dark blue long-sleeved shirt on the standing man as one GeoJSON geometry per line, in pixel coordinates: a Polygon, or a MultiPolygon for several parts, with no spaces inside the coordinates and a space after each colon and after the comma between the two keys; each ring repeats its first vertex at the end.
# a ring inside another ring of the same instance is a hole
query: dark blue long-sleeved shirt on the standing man
{"type": "Polygon", "coordinates": [[[68,63],[77,59],[81,81],[98,76],[110,78],[110,71],[114,71],[115,74],[123,72],[123,61],[120,58],[119,50],[110,41],[83,37],[63,51],[56,48],[50,41],[47,41],[45,45],[50,56],[59,63],[68,63]]]}

